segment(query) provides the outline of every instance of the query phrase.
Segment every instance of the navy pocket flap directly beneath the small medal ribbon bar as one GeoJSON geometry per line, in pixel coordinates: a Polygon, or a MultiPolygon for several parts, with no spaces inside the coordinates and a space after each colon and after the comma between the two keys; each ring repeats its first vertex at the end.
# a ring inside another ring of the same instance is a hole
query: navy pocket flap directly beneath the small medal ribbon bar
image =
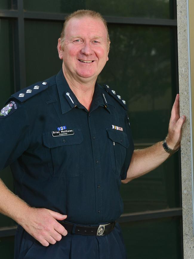
{"type": "Polygon", "coordinates": [[[128,140],[127,134],[125,132],[118,131],[118,130],[115,130],[115,129],[107,129],[107,132],[108,132],[109,138],[112,141],[121,144],[125,148],[128,148],[129,140],[128,140]]]}

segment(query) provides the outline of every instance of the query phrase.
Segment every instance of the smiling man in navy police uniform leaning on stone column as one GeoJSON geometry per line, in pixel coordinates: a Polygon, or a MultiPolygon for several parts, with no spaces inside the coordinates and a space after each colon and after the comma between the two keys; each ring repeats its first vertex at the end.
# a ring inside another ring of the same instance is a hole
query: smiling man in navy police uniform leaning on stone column
{"type": "Polygon", "coordinates": [[[125,101],[96,83],[109,45],[100,14],[71,14],[58,39],[62,70],[13,94],[1,109],[0,168],[10,165],[18,196],[1,182],[0,212],[19,224],[17,259],[126,258],[115,224],[120,184],[180,147],[185,116],[177,96],[166,141],[133,152],[125,101]]]}

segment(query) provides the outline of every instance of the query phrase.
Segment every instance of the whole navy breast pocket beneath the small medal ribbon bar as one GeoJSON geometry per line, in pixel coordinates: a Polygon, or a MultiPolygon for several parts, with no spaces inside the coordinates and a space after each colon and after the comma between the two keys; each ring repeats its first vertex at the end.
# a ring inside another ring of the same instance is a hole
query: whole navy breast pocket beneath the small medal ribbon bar
{"type": "Polygon", "coordinates": [[[107,134],[112,169],[115,174],[120,175],[126,156],[126,148],[129,147],[129,140],[123,131],[107,129],[107,134]]]}

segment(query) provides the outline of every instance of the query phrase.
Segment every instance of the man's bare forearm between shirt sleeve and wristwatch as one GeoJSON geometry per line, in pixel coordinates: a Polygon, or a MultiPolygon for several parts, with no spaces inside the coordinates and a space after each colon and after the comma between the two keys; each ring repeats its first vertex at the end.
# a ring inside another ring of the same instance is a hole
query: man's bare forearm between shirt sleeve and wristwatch
{"type": "Polygon", "coordinates": [[[128,183],[134,178],[152,171],[168,157],[170,157],[170,154],[164,150],[162,141],[149,148],[135,150],[127,171],[127,178],[122,180],[122,183],[128,183]]]}

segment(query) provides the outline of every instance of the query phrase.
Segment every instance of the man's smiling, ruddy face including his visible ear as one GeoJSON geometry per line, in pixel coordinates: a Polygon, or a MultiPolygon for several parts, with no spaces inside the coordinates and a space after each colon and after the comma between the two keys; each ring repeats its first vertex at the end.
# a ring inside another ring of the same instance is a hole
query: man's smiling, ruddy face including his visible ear
{"type": "Polygon", "coordinates": [[[107,31],[100,19],[72,18],[65,29],[64,48],[58,44],[66,75],[74,79],[96,79],[108,60],[107,31]]]}

